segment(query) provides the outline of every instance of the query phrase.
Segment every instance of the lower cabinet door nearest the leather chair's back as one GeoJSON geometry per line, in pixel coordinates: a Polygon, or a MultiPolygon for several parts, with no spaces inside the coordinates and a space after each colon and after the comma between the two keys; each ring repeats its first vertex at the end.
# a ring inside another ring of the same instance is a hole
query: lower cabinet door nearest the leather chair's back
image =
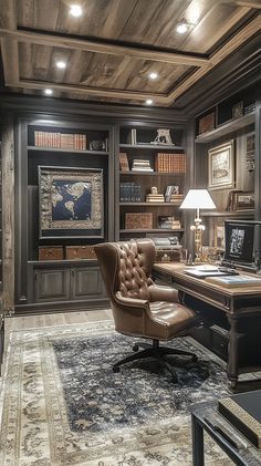
{"type": "Polygon", "coordinates": [[[72,269],[72,300],[106,297],[98,266],[75,267],[72,269]]]}

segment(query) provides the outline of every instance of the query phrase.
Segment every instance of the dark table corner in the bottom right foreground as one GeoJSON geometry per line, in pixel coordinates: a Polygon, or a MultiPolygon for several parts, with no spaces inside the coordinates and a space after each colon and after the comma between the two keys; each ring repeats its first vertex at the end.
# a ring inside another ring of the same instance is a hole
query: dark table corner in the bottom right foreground
{"type": "Polygon", "coordinates": [[[192,427],[192,465],[203,466],[203,432],[206,431],[223,452],[238,466],[260,466],[261,452],[251,445],[246,437],[233,428],[219,413],[217,402],[199,403],[191,408],[191,427],[192,427]],[[230,437],[236,438],[238,448],[234,448],[222,434],[212,428],[211,425],[219,423],[231,434],[230,437]],[[246,448],[247,446],[247,448],[246,448]]]}

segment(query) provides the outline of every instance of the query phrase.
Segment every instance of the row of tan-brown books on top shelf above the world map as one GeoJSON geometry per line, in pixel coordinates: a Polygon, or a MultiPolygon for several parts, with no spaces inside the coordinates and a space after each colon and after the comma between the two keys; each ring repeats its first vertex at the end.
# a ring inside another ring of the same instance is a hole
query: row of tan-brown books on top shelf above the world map
{"type": "Polygon", "coordinates": [[[86,151],[86,144],[87,138],[85,134],[34,131],[34,145],[36,147],[61,147],[86,151]]]}

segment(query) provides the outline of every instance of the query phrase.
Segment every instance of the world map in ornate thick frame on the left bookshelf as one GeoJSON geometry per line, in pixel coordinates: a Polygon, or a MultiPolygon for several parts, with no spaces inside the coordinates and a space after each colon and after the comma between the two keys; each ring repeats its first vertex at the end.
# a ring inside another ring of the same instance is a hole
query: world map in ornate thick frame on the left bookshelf
{"type": "Polygon", "coordinates": [[[103,170],[39,167],[40,239],[103,238],[103,170]]]}

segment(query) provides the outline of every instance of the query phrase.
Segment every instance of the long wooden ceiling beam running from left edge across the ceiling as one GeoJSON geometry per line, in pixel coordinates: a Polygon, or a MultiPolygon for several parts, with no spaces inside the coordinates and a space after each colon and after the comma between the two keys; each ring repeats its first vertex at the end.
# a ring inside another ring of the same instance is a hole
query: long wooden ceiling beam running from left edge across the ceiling
{"type": "Polygon", "coordinates": [[[31,31],[10,31],[0,29],[0,35],[12,37],[21,42],[30,42],[40,45],[61,46],[69,49],[85,50],[94,53],[106,53],[113,55],[132,56],[140,60],[152,60],[171,64],[186,64],[188,66],[208,66],[207,58],[198,56],[191,53],[165,52],[153,49],[143,49],[136,45],[119,45],[115,43],[101,43],[94,40],[72,39],[65,35],[46,34],[31,31]]]}

